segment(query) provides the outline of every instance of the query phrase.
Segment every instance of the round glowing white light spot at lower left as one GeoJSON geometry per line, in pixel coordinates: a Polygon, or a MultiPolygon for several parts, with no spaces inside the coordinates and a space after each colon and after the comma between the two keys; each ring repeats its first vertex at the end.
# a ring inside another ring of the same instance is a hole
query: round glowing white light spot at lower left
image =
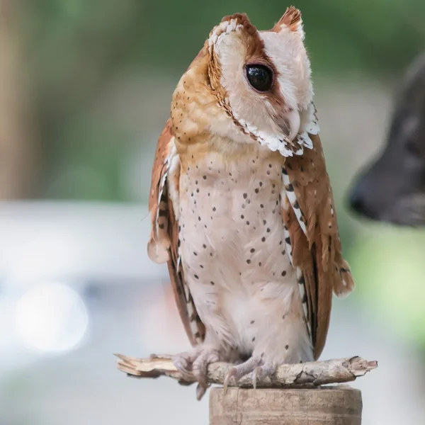
{"type": "Polygon", "coordinates": [[[61,283],[42,283],[18,300],[16,331],[21,343],[38,351],[68,351],[86,333],[89,316],[81,297],[61,283]]]}

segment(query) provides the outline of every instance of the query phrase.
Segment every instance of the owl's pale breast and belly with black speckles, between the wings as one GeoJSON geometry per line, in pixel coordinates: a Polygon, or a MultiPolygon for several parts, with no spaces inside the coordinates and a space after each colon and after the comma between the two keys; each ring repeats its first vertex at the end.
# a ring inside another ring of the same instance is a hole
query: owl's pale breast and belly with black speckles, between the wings
{"type": "Polygon", "coordinates": [[[281,314],[296,289],[280,210],[282,164],[214,164],[181,175],[181,261],[207,328],[249,350],[252,320],[281,314]]]}

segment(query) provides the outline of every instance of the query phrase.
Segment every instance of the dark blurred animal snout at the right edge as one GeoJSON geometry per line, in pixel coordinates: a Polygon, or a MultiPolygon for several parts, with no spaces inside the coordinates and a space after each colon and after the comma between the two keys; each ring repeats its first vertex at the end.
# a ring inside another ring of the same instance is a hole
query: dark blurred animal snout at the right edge
{"type": "Polygon", "coordinates": [[[425,225],[425,53],[401,81],[384,150],[357,177],[350,208],[397,225],[425,225]]]}

